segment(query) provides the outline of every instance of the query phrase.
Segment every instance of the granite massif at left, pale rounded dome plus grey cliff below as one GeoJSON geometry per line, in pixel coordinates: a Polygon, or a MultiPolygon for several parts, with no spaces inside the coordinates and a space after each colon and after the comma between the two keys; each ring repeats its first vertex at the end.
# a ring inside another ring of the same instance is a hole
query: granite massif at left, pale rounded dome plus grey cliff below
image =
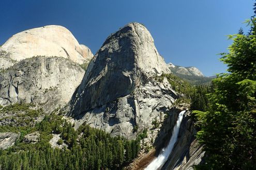
{"type": "Polygon", "coordinates": [[[92,58],[63,26],[13,35],[0,47],[0,105],[33,103],[46,112],[65,105],[82,81],[79,64],[92,58]]]}

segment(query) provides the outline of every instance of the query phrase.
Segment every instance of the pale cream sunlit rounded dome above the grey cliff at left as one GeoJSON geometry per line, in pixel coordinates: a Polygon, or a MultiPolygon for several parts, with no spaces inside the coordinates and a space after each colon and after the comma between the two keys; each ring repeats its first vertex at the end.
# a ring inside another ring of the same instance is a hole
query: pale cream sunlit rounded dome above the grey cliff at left
{"type": "Polygon", "coordinates": [[[80,45],[67,28],[57,25],[19,32],[0,47],[1,51],[17,61],[33,56],[57,56],[82,64],[93,58],[88,47],[80,45]]]}

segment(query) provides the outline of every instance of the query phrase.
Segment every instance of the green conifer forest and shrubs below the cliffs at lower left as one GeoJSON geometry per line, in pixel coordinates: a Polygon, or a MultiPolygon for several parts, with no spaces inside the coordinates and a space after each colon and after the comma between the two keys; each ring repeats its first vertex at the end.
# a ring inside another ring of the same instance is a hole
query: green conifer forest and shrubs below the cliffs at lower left
{"type": "Polygon", "coordinates": [[[123,137],[111,137],[88,125],[81,125],[75,131],[56,114],[45,116],[22,136],[33,131],[40,132],[38,143],[26,144],[21,139],[8,150],[0,151],[2,169],[122,169],[140,150],[139,139],[128,141],[123,137]],[[68,148],[51,148],[52,133],[61,133],[57,144],[66,143],[68,148]]]}

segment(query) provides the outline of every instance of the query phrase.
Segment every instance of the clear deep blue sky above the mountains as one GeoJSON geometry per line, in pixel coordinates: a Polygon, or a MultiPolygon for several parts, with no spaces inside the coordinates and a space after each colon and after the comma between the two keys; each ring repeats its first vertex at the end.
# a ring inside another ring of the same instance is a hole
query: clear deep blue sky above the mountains
{"type": "MultiPolygon", "coordinates": [[[[95,54],[104,40],[129,22],[144,24],[165,62],[196,66],[206,76],[227,69],[217,56],[227,52],[253,14],[252,0],[1,0],[0,44],[14,33],[45,25],[68,28],[95,54]]],[[[245,28],[246,31],[248,28],[245,28]]]]}

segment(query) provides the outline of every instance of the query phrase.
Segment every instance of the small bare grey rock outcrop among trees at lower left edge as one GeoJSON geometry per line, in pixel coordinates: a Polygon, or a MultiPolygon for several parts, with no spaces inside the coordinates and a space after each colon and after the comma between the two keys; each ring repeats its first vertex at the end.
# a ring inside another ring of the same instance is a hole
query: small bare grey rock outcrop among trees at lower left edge
{"type": "Polygon", "coordinates": [[[19,134],[17,133],[0,133],[0,149],[4,150],[7,149],[8,147],[11,147],[12,145],[14,145],[14,142],[17,138],[19,138],[19,134]]]}

